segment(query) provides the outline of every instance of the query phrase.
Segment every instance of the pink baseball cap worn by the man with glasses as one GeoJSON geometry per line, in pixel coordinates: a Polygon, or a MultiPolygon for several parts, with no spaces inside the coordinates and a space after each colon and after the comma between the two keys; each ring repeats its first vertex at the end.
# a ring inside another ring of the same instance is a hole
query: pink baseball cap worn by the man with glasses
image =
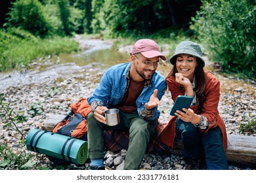
{"type": "Polygon", "coordinates": [[[131,55],[142,54],[145,58],[154,58],[159,56],[161,59],[166,60],[166,57],[160,53],[158,44],[152,39],[139,39],[133,45],[133,52],[131,55]]]}

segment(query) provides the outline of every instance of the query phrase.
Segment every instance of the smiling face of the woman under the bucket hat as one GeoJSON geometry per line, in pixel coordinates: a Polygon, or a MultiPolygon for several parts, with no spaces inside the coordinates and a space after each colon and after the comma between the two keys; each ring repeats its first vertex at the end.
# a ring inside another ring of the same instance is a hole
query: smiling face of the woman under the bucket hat
{"type": "Polygon", "coordinates": [[[196,61],[196,56],[191,56],[188,54],[179,54],[176,58],[176,68],[179,73],[184,77],[188,78],[190,81],[194,78],[194,72],[198,62],[196,61]]]}

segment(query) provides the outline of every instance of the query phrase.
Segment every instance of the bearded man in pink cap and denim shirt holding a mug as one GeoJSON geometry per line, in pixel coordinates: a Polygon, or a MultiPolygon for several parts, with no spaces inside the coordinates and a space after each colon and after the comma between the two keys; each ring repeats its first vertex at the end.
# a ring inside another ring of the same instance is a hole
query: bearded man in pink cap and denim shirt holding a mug
{"type": "Polygon", "coordinates": [[[129,129],[129,148],[124,169],[139,169],[150,140],[150,121],[160,116],[166,84],[156,69],[161,65],[158,44],[140,39],[133,45],[131,63],[120,63],[104,73],[95,93],[88,98],[92,112],[87,116],[90,169],[104,169],[104,130],[129,129]],[[120,122],[106,125],[103,114],[108,108],[119,109],[120,122]]]}

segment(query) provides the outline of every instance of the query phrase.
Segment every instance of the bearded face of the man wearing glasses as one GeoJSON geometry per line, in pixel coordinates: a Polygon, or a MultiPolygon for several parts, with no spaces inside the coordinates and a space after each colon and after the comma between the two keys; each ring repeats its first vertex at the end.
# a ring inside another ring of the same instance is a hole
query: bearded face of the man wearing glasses
{"type": "Polygon", "coordinates": [[[133,58],[135,71],[143,80],[151,80],[158,68],[159,57],[145,58],[142,54],[136,54],[133,58]]]}

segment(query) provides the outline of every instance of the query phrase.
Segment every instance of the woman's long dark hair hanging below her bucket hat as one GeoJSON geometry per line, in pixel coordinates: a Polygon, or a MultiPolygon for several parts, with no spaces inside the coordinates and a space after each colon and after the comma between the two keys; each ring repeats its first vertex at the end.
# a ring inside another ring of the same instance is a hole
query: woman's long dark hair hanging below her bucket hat
{"type": "MultiPolygon", "coordinates": [[[[199,101],[199,107],[198,107],[198,114],[202,112],[203,103],[205,101],[205,87],[206,87],[206,74],[202,67],[202,62],[200,59],[196,59],[198,62],[198,66],[196,67],[194,71],[194,78],[196,80],[196,86],[194,88],[194,91],[196,92],[196,96],[198,97],[199,101]]],[[[169,78],[170,76],[174,76],[178,73],[177,67],[176,67],[176,61],[173,64],[173,69],[171,69],[171,72],[169,75],[167,75],[166,78],[169,78]]]]}

